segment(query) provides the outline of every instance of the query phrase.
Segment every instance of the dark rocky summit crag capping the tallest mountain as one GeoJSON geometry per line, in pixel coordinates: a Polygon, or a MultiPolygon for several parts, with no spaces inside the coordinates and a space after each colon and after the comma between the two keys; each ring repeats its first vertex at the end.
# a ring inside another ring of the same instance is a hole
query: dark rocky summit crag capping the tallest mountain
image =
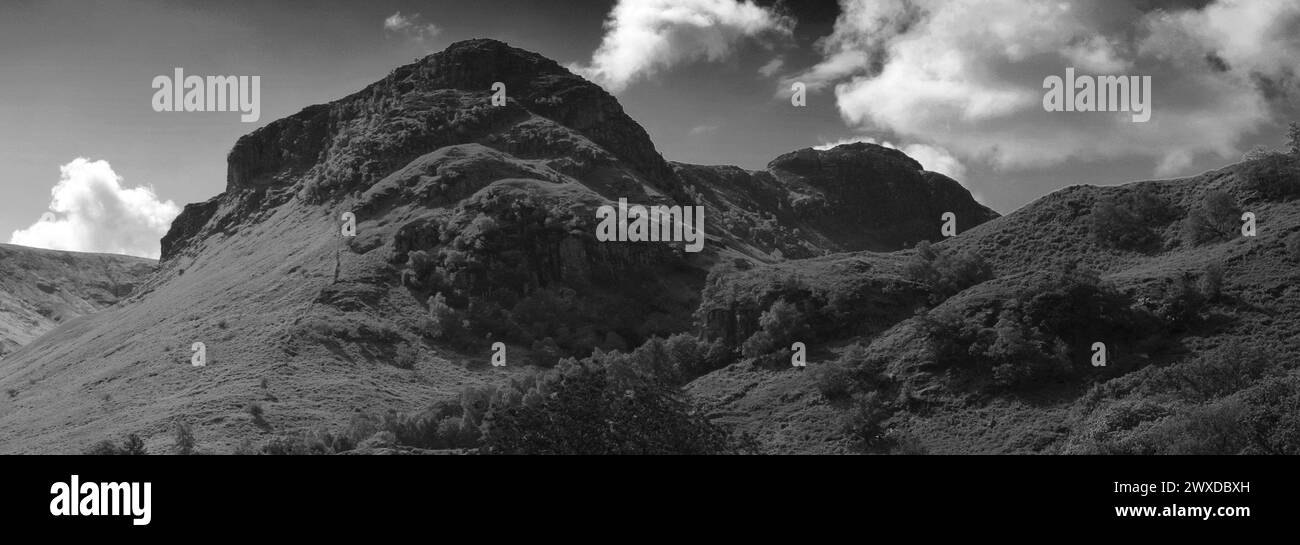
{"type": "Polygon", "coordinates": [[[581,134],[651,182],[671,185],[672,169],[612,95],[541,55],[474,39],[242,137],[228,156],[226,186],[238,191],[315,178],[324,186],[317,196],[328,196],[439,147],[485,142],[530,116],[581,134]],[[506,105],[493,103],[497,83],[504,85],[506,105]]]}

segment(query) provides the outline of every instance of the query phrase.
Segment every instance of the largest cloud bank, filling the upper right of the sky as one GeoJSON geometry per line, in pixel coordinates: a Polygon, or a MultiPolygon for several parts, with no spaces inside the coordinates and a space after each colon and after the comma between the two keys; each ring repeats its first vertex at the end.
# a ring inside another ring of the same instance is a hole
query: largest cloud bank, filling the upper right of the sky
{"type": "Polygon", "coordinates": [[[1300,3],[840,0],[822,61],[792,81],[833,88],[857,130],[1002,168],[1149,156],[1161,176],[1234,157],[1300,86],[1300,3]],[[1165,8],[1149,8],[1161,4],[1165,8]],[[1043,79],[1150,75],[1153,117],[1044,112],[1043,79]]]}

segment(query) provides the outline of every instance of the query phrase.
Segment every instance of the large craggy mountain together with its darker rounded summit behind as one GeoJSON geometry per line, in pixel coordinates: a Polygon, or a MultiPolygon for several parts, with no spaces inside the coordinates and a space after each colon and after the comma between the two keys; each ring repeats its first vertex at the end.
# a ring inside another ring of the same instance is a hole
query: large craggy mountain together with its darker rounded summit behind
{"type": "Polygon", "coordinates": [[[870,144],[763,172],[668,163],[601,87],[460,42],[235,142],[225,191],[185,207],[130,302],[0,362],[0,451],[127,433],[162,451],[177,421],[199,450],[266,451],[458,398],[468,429],[476,388],[698,329],[710,271],[937,241],[948,211],[996,217],[870,144]],[[705,207],[705,250],[598,241],[595,209],[619,199],[705,207]]]}

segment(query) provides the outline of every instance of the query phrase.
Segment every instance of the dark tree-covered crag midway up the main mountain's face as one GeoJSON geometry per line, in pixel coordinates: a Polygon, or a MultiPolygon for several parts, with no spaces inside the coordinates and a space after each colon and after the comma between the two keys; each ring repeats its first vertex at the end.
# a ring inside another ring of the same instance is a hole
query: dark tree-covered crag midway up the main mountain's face
{"type": "Polygon", "coordinates": [[[680,248],[597,243],[582,206],[549,191],[478,194],[399,233],[429,338],[481,350],[490,337],[554,366],[689,328],[702,278],[680,267],[680,248]]]}

